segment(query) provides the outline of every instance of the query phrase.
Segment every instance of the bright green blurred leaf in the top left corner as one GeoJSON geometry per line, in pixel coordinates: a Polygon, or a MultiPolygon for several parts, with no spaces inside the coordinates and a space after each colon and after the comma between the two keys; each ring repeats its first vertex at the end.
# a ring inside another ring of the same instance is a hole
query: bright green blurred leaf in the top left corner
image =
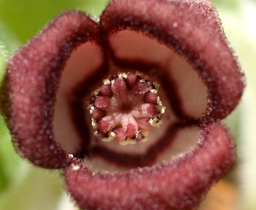
{"type": "Polygon", "coordinates": [[[107,0],[1,0],[0,20],[25,43],[60,12],[79,9],[99,15],[107,0]]]}

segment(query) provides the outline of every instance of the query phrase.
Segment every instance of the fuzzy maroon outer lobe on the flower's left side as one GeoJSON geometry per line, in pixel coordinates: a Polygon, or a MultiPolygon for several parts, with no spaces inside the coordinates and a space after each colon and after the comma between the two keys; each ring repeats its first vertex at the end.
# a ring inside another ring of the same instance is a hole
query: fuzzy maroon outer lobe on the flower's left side
{"type": "Polygon", "coordinates": [[[35,165],[60,168],[70,163],[54,140],[56,88],[72,50],[96,37],[98,24],[82,12],[66,12],[8,61],[1,109],[16,150],[35,165]]]}

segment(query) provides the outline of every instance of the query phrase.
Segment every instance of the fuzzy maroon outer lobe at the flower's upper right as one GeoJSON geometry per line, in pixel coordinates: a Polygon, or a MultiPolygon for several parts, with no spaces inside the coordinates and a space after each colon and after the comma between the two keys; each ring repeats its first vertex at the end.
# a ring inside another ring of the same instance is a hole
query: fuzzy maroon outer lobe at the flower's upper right
{"type": "Polygon", "coordinates": [[[224,118],[238,104],[243,74],[209,1],[112,1],[100,24],[106,37],[139,31],[185,56],[207,86],[208,117],[224,118]]]}

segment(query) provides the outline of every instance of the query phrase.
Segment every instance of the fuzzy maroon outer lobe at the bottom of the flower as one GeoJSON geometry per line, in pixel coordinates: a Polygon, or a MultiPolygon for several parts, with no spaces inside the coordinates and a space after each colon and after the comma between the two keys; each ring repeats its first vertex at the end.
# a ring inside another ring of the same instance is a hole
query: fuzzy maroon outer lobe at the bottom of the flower
{"type": "Polygon", "coordinates": [[[194,150],[154,167],[127,173],[96,173],[83,163],[66,169],[68,191],[82,209],[194,209],[232,167],[234,144],[226,129],[202,129],[194,150]]]}

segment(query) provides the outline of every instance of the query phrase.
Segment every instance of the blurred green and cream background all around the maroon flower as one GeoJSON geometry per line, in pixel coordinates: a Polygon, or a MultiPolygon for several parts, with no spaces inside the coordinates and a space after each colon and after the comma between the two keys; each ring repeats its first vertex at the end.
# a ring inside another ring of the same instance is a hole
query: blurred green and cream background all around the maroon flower
{"type": "MultiPolygon", "coordinates": [[[[56,14],[79,9],[100,16],[108,0],[0,0],[0,82],[5,60],[56,14]]],[[[200,210],[256,209],[256,1],[214,0],[224,31],[245,72],[247,87],[238,108],[225,119],[237,144],[234,170],[209,192],[200,210]]],[[[72,210],[58,171],[21,159],[0,118],[0,209],[72,210]]]]}

